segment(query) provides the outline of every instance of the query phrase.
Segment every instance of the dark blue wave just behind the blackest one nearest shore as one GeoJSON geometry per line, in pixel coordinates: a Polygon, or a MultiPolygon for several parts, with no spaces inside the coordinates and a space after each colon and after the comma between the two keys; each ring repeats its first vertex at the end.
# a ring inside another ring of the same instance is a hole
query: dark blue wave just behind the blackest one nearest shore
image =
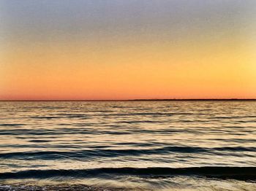
{"type": "Polygon", "coordinates": [[[61,158],[75,158],[77,160],[90,159],[93,157],[119,157],[140,155],[165,155],[170,152],[176,153],[210,153],[218,155],[236,155],[235,152],[256,152],[256,147],[160,147],[153,149],[79,149],[73,151],[38,151],[38,152],[6,152],[0,153],[0,158],[22,158],[26,160],[55,160],[61,158]],[[230,153],[231,152],[231,153],[230,153]]]}

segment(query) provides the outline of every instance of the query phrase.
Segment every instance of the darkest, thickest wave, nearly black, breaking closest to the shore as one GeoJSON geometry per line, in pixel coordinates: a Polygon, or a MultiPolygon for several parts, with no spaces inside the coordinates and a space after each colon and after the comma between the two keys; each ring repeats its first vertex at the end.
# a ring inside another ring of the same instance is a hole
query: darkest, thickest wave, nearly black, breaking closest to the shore
{"type": "Polygon", "coordinates": [[[197,176],[214,179],[256,181],[256,167],[206,166],[190,168],[94,168],[82,170],[29,170],[0,173],[0,179],[45,179],[56,176],[89,178],[115,175],[144,176],[148,178],[197,176]]]}

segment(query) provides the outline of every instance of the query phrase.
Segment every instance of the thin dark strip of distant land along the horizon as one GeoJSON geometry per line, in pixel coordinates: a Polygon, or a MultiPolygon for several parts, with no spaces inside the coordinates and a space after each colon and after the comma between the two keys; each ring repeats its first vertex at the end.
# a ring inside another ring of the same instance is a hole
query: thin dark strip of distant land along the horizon
{"type": "Polygon", "coordinates": [[[256,101],[255,99],[227,98],[227,99],[106,99],[106,100],[0,100],[0,101],[256,101]]]}

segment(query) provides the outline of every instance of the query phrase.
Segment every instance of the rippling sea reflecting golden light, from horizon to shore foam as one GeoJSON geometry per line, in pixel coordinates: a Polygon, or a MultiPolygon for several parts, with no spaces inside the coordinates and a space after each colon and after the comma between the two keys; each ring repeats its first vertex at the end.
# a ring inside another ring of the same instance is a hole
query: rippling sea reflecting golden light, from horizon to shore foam
{"type": "Polygon", "coordinates": [[[256,101],[0,102],[0,184],[256,190],[256,101]]]}

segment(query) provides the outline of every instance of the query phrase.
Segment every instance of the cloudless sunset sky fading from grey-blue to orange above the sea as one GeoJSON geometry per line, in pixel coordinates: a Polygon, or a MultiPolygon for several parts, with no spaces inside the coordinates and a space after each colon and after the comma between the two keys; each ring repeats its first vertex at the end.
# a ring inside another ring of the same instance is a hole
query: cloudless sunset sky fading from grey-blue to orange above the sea
{"type": "Polygon", "coordinates": [[[256,1],[1,0],[0,100],[256,98],[256,1]]]}

